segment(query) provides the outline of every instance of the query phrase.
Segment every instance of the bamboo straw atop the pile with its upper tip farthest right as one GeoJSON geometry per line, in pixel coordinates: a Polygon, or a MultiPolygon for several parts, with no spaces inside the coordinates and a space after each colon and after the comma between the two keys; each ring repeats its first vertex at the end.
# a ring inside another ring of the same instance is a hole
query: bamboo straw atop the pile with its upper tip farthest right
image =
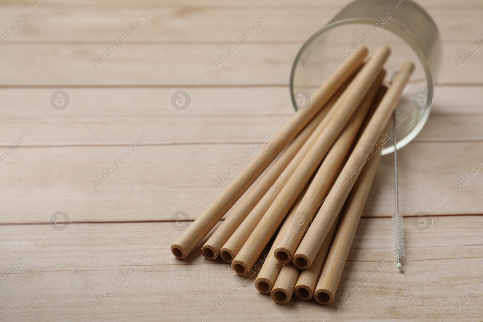
{"type": "Polygon", "coordinates": [[[334,183],[324,204],[315,216],[307,234],[298,246],[293,261],[298,267],[307,269],[311,266],[315,255],[322,245],[323,239],[335,221],[335,218],[342,208],[349,192],[354,186],[355,180],[360,174],[367,160],[373,155],[373,147],[379,139],[384,126],[398,105],[401,93],[409,80],[414,65],[411,62],[404,62],[394,78],[391,87],[387,90],[384,98],[377,107],[374,115],[369,121],[360,139],[355,145],[354,151],[342,168],[339,179],[334,183]]]}

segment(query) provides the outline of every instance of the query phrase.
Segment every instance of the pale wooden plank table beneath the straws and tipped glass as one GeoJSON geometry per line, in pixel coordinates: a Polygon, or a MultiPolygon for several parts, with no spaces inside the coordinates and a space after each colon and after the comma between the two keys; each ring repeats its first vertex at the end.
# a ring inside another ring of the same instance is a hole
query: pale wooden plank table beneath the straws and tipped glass
{"type": "Polygon", "coordinates": [[[224,188],[214,187],[218,175],[293,114],[293,59],[347,1],[36,2],[2,1],[0,10],[0,30],[28,14],[0,44],[0,153],[8,154],[0,165],[0,321],[483,321],[475,289],[483,286],[483,174],[455,184],[483,165],[483,53],[455,66],[481,42],[481,2],[419,1],[440,28],[436,84],[444,82],[425,128],[399,153],[404,273],[394,258],[369,273],[392,252],[388,155],[338,304],[328,307],[295,297],[274,304],[254,278],[205,260],[201,244],[185,261],[169,247],[224,188]],[[265,12],[263,29],[216,69],[213,59],[265,12]],[[143,13],[134,25],[141,29],[109,49],[143,13]],[[67,109],[57,94],[53,108],[57,90],[69,96],[67,109]],[[184,111],[171,105],[178,90],[191,98],[184,111]],[[133,146],[143,133],[149,138],[133,146]],[[178,221],[177,211],[189,217],[178,221]],[[413,224],[419,211],[431,215],[426,231],[413,224]]]}

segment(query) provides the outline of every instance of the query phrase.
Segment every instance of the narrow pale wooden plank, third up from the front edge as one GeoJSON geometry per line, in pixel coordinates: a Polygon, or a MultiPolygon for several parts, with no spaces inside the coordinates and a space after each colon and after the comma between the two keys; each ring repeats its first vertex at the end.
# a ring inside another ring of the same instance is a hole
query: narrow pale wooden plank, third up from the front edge
{"type": "MultiPolygon", "coordinates": [[[[29,135],[24,146],[129,145],[148,133],[149,145],[234,144],[273,137],[293,113],[269,115],[88,116],[0,118],[0,146],[29,135]],[[42,120],[42,121],[41,121],[42,120]],[[35,127],[34,127],[35,126],[35,127]]],[[[417,142],[483,141],[483,114],[432,113],[417,142]]]]}

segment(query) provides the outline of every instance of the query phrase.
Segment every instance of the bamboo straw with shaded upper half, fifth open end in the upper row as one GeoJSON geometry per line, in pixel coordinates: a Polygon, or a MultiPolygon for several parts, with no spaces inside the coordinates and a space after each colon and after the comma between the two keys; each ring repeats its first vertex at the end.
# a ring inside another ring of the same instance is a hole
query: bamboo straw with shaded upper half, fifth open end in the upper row
{"type": "Polygon", "coordinates": [[[297,250],[305,232],[312,223],[312,219],[317,212],[318,206],[327,196],[327,193],[334,184],[342,165],[349,157],[355,136],[359,132],[370,107],[373,105],[372,103],[385,74],[385,71],[381,70],[379,76],[370,87],[369,92],[357,108],[357,111],[352,116],[339,139],[330,148],[322,165],[317,170],[317,174],[315,175],[309,190],[302,199],[297,211],[290,219],[293,224],[292,228],[285,231],[284,241],[277,249],[275,249],[274,255],[278,261],[282,263],[290,263],[292,261],[293,253],[297,250]]]}

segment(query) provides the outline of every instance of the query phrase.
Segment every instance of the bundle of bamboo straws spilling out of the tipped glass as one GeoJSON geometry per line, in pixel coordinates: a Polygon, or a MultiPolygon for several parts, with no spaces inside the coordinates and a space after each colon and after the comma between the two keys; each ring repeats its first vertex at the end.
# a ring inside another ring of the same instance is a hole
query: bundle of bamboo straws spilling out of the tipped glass
{"type": "Polygon", "coordinates": [[[387,88],[382,81],[389,48],[367,54],[358,49],[318,87],[310,108],[295,113],[171,245],[174,256],[185,259],[253,184],[201,247],[203,256],[220,255],[247,275],[280,226],[256,289],[279,304],[294,292],[323,305],[334,300],[390,138],[389,120],[414,70],[403,63],[387,88]]]}

